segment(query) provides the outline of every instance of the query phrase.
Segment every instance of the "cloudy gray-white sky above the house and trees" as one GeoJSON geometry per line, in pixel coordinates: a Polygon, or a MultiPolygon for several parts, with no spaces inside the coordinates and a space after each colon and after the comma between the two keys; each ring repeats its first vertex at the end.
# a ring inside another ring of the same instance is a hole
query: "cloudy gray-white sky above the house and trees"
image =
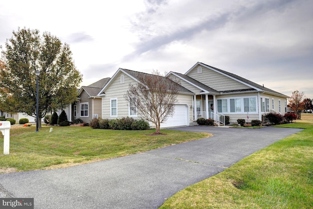
{"type": "Polygon", "coordinates": [[[69,44],[81,85],[199,61],[313,98],[313,0],[1,0],[3,50],[19,27],[69,44]]]}

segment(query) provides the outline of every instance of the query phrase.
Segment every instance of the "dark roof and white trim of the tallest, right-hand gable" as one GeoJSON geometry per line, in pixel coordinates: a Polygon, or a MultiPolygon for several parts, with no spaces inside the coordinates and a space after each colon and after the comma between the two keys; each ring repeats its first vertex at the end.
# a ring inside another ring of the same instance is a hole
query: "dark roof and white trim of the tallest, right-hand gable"
{"type": "Polygon", "coordinates": [[[266,92],[266,93],[271,93],[271,94],[276,94],[276,95],[279,95],[279,96],[283,96],[283,97],[286,97],[288,98],[289,96],[285,95],[285,94],[282,94],[282,93],[279,93],[279,92],[276,92],[276,91],[273,91],[271,89],[268,89],[264,86],[261,86],[257,83],[254,83],[250,80],[247,80],[246,78],[243,78],[239,75],[236,75],[236,74],[233,74],[233,73],[230,73],[230,72],[227,72],[227,71],[224,71],[224,70],[221,70],[221,69],[218,69],[218,68],[215,68],[215,67],[212,67],[212,66],[209,66],[209,65],[206,65],[204,63],[201,63],[201,62],[197,62],[191,69],[189,69],[185,75],[187,75],[191,70],[193,70],[197,65],[201,65],[205,68],[208,68],[210,70],[213,70],[215,72],[218,72],[220,74],[223,74],[231,79],[234,79],[242,84],[245,84],[246,86],[249,86],[251,89],[245,89],[245,90],[234,90],[234,91],[222,91],[221,93],[232,93],[232,92],[244,92],[244,91],[260,91],[260,92],[266,92]]]}

